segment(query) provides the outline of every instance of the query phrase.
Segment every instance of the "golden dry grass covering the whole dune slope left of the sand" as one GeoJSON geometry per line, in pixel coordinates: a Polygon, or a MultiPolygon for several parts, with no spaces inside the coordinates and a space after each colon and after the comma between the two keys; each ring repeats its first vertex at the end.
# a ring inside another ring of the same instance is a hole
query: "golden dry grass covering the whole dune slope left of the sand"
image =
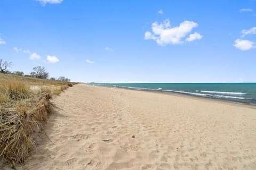
{"type": "Polygon", "coordinates": [[[52,95],[74,84],[0,74],[1,164],[22,165],[36,146],[31,134],[51,113],[52,95]]]}

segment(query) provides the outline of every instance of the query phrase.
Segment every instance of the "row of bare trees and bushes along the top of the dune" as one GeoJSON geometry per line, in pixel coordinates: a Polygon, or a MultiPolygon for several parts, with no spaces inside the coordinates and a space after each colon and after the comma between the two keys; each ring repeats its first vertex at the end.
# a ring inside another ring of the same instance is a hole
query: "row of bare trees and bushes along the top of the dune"
{"type": "Polygon", "coordinates": [[[19,75],[23,77],[34,77],[38,79],[48,79],[53,81],[70,81],[70,79],[65,78],[63,76],[59,77],[58,79],[50,78],[49,73],[45,70],[45,67],[42,66],[33,67],[33,71],[31,71],[30,74],[24,74],[22,71],[11,72],[7,70],[11,66],[13,66],[12,62],[7,62],[0,58],[0,73],[19,75]]]}

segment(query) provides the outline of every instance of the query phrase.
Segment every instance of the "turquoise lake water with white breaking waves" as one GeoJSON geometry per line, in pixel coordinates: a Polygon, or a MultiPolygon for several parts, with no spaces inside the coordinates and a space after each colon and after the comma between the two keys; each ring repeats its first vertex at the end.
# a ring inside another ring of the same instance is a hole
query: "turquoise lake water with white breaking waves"
{"type": "Polygon", "coordinates": [[[87,83],[134,90],[184,94],[256,105],[256,83],[87,83]]]}

